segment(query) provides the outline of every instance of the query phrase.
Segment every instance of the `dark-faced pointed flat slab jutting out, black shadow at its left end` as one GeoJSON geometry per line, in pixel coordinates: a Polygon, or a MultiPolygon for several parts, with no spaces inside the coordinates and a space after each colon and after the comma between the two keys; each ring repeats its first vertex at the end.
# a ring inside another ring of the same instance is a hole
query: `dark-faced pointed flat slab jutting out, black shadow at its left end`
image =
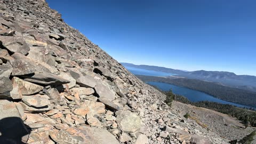
{"type": "Polygon", "coordinates": [[[25,81],[41,85],[62,85],[70,83],[67,79],[50,73],[34,73],[30,75],[23,75],[22,77],[25,81]]]}

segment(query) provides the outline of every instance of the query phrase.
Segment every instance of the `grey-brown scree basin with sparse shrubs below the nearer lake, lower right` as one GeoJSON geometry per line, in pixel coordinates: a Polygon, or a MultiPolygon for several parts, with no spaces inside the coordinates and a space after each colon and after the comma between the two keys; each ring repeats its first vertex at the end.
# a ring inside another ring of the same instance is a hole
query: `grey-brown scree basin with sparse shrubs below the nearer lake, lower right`
{"type": "MultiPolygon", "coordinates": [[[[172,108],[177,109],[180,115],[188,113],[190,115],[188,121],[196,120],[204,125],[208,130],[213,131],[230,141],[241,140],[246,135],[249,135],[251,132],[256,130],[255,127],[251,126],[246,127],[245,129],[245,126],[242,123],[239,123],[236,118],[214,110],[186,105],[177,101],[172,102],[172,108]]],[[[254,143],[255,142],[256,141],[254,141],[254,143]]]]}

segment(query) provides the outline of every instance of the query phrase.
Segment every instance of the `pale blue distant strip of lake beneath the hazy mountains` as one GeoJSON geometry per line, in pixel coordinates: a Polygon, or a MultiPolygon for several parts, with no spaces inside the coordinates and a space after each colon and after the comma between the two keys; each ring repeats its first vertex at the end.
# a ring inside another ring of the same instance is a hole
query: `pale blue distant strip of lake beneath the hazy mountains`
{"type": "Polygon", "coordinates": [[[125,68],[128,69],[134,75],[145,75],[145,76],[172,76],[172,75],[176,75],[176,74],[172,74],[172,73],[164,73],[162,71],[154,71],[154,70],[147,70],[147,69],[141,69],[141,68],[127,67],[127,66],[125,66],[125,68]]]}

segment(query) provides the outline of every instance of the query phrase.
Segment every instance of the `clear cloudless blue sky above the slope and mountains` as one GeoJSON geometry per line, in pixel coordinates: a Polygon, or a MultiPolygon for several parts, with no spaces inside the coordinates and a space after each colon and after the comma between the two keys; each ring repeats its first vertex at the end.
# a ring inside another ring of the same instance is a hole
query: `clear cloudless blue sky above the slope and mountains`
{"type": "Polygon", "coordinates": [[[256,75],[254,0],[46,0],[119,62],[256,75]]]}

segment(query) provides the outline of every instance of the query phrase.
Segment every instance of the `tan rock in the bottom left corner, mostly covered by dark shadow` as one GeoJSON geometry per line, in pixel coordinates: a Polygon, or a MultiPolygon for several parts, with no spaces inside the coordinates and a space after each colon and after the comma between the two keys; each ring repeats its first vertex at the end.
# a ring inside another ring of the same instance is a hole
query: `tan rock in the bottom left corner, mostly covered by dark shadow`
{"type": "Polygon", "coordinates": [[[27,142],[29,132],[16,105],[8,100],[0,100],[0,111],[0,143],[27,142]]]}

